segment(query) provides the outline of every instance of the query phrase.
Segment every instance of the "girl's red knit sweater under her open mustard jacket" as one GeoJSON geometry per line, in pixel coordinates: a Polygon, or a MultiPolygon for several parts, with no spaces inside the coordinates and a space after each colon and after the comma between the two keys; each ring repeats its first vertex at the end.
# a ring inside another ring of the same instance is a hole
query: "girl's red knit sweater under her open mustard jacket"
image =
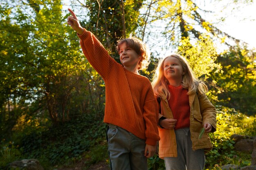
{"type": "Polygon", "coordinates": [[[188,90],[182,88],[182,85],[175,87],[168,85],[171,97],[168,100],[169,107],[173,113],[173,118],[177,120],[175,130],[187,128],[190,125],[190,106],[188,90]]]}

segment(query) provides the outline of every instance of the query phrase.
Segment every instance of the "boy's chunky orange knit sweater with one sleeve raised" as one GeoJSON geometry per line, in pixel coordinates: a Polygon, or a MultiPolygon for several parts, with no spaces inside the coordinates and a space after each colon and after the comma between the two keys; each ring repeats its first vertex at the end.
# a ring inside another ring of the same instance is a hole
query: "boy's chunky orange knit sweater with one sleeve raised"
{"type": "Polygon", "coordinates": [[[117,63],[90,31],[84,29],[78,36],[85,57],[106,85],[104,122],[124,128],[154,146],[160,139],[158,109],[148,78],[117,63]]]}

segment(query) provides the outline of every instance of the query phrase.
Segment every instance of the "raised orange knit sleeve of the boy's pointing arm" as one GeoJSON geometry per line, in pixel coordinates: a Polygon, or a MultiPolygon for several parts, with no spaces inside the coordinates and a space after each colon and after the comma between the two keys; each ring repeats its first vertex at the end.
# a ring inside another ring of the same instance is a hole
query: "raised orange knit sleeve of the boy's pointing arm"
{"type": "Polygon", "coordinates": [[[115,60],[108,55],[108,51],[90,31],[84,29],[83,34],[77,35],[80,38],[80,45],[88,62],[103,79],[106,79],[115,60]]]}

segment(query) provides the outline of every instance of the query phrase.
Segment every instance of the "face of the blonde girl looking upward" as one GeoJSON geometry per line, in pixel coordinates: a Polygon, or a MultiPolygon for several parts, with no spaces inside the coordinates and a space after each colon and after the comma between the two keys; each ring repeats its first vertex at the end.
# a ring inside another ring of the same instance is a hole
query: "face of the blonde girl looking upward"
{"type": "Polygon", "coordinates": [[[182,63],[176,57],[169,56],[164,60],[164,77],[168,81],[182,82],[182,76],[185,74],[182,63]]]}

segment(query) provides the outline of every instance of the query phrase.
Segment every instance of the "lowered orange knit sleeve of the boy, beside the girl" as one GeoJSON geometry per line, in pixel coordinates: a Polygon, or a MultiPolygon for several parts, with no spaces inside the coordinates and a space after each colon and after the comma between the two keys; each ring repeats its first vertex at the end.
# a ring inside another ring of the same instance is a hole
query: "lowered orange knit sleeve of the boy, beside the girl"
{"type": "Polygon", "coordinates": [[[153,89],[150,84],[144,103],[143,117],[146,124],[146,144],[152,146],[155,146],[157,141],[160,140],[157,128],[158,112],[157,99],[154,96],[153,89]]]}

